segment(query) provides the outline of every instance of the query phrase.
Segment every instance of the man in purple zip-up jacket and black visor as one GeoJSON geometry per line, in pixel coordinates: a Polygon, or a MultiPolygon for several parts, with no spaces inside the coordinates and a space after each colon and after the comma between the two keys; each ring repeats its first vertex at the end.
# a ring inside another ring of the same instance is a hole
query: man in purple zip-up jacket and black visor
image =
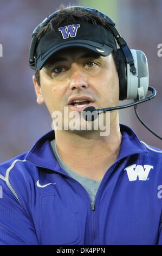
{"type": "Polygon", "coordinates": [[[55,131],[1,164],[0,243],[161,245],[161,151],[119,125],[118,111],[100,115],[107,136],[99,124],[81,125],[87,106],[119,103],[116,43],[105,19],[61,8],[36,38],[37,103],[46,104],[55,131]],[[54,114],[67,110],[61,129],[54,114]]]}

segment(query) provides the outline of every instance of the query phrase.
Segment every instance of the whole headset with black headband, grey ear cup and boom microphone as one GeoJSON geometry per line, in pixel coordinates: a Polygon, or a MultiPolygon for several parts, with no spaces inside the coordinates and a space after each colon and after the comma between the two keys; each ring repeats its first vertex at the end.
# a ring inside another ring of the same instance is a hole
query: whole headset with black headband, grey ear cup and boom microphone
{"type": "MultiPolygon", "coordinates": [[[[126,41],[120,36],[119,32],[115,28],[115,22],[110,19],[107,15],[101,13],[101,11],[93,8],[82,7],[82,6],[72,6],[66,7],[65,9],[76,8],[87,10],[89,13],[97,14],[106,21],[106,26],[109,31],[113,34],[116,42],[119,45],[117,49],[117,59],[118,59],[118,76],[119,76],[119,100],[134,100],[133,103],[127,105],[95,109],[94,107],[87,107],[83,111],[83,117],[86,118],[87,111],[93,112],[96,111],[98,114],[106,111],[113,111],[116,109],[123,109],[127,107],[134,106],[135,114],[137,115],[139,121],[142,125],[146,127],[150,132],[152,132],[159,139],[162,139],[159,135],[153,132],[139,117],[137,112],[137,106],[139,103],[151,100],[156,95],[156,90],[148,86],[149,83],[149,72],[148,72],[148,63],[145,53],[140,50],[131,50],[126,41]],[[152,92],[150,95],[147,95],[147,92],[152,92]]],[[[36,69],[36,47],[38,45],[39,39],[36,37],[37,33],[46,26],[51,19],[57,16],[58,11],[55,11],[53,14],[49,15],[45,20],[43,20],[33,31],[32,41],[30,44],[29,50],[29,65],[30,68],[36,69]]],[[[94,119],[92,118],[92,121],[94,119]]]]}

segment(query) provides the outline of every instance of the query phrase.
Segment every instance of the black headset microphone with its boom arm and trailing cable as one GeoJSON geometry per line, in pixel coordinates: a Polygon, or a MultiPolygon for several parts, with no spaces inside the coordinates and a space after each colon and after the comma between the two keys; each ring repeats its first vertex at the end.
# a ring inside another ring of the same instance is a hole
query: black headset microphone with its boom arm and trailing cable
{"type": "Polygon", "coordinates": [[[82,111],[82,117],[86,120],[86,121],[94,121],[96,118],[98,118],[98,114],[100,113],[106,113],[107,111],[113,111],[113,110],[117,110],[117,109],[123,109],[123,108],[127,108],[127,107],[132,107],[134,106],[134,111],[135,114],[137,115],[138,120],[141,122],[142,125],[144,125],[146,127],[146,129],[150,132],[153,133],[153,135],[157,136],[159,139],[162,140],[162,138],[157,135],[157,133],[153,132],[145,123],[144,121],[141,120],[141,118],[138,115],[137,112],[137,105],[143,102],[146,102],[148,100],[152,100],[155,95],[157,94],[157,91],[155,90],[155,88],[148,86],[148,91],[152,92],[152,94],[148,95],[145,99],[142,100],[134,100],[134,102],[126,104],[126,105],[122,105],[122,106],[115,106],[115,107],[107,107],[107,108],[98,108],[96,109],[93,106],[90,107],[86,107],[83,111],[82,111]]]}

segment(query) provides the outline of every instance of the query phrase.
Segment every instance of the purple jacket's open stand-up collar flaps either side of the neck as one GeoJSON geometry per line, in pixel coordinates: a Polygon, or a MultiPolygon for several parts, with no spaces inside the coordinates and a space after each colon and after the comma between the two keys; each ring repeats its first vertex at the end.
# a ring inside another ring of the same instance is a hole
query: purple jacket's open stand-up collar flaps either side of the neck
{"type": "MultiPolygon", "coordinates": [[[[145,146],[139,141],[138,136],[128,126],[120,124],[122,141],[118,160],[134,155],[148,153],[145,146]]],[[[50,141],[55,138],[55,132],[50,131],[38,139],[34,147],[27,153],[25,159],[37,167],[47,168],[60,172],[61,167],[51,148],[50,141]]],[[[62,173],[62,171],[61,171],[62,173]]]]}

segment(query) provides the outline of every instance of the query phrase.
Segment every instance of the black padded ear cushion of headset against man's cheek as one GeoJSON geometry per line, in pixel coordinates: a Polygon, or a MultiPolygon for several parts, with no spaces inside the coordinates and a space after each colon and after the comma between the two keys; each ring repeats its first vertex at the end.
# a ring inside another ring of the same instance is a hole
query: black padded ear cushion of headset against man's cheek
{"type": "Polygon", "coordinates": [[[117,50],[118,76],[119,76],[119,100],[127,97],[127,63],[121,49],[117,50]]]}

